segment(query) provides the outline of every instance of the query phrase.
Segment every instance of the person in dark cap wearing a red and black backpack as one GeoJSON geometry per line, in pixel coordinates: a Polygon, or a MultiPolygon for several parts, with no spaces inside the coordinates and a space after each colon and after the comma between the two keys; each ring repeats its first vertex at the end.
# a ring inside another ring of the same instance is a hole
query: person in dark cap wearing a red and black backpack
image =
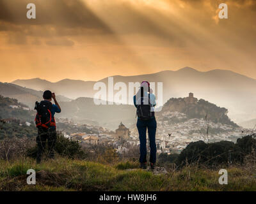
{"type": "Polygon", "coordinates": [[[38,136],[36,137],[36,143],[38,146],[36,163],[40,163],[42,160],[42,154],[45,150],[46,141],[49,148],[49,157],[54,158],[54,146],[56,144],[56,122],[54,119],[55,113],[60,113],[61,108],[56,100],[56,96],[51,91],[45,91],[43,94],[44,101],[38,103],[36,101],[36,128],[38,128],[38,136]],[[54,100],[55,104],[51,101],[54,100]]]}

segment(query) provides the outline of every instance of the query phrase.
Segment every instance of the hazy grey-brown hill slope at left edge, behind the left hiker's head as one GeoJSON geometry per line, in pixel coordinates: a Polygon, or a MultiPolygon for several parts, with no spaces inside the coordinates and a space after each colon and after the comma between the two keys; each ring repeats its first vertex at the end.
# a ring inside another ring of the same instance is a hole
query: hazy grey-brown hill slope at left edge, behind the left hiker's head
{"type": "MultiPolygon", "coordinates": [[[[43,96],[42,91],[35,91],[33,89],[20,87],[19,85],[1,82],[0,94],[5,97],[17,99],[20,103],[28,105],[30,108],[34,108],[35,101],[41,101],[43,96]]],[[[70,99],[65,96],[58,95],[56,97],[58,101],[70,101],[70,99]]]]}

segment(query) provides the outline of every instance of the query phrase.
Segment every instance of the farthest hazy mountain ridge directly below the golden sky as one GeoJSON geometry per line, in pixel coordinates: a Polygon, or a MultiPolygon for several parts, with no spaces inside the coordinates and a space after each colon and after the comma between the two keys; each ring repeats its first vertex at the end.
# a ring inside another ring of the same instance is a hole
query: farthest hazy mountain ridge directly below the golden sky
{"type": "MultiPolygon", "coordinates": [[[[256,80],[234,73],[233,71],[214,69],[212,71],[196,71],[193,68],[182,68],[178,71],[161,71],[149,75],[114,76],[114,83],[124,82],[163,82],[163,102],[170,98],[185,97],[188,92],[193,92],[197,98],[228,108],[228,115],[235,122],[256,117],[256,80]]],[[[106,83],[108,78],[99,82],[106,83]]],[[[95,82],[81,80],[61,80],[48,82],[39,78],[32,80],[16,80],[13,84],[29,87],[36,90],[51,89],[68,98],[88,97],[93,98],[95,82]]],[[[156,90],[157,95],[157,90],[156,90]]]]}

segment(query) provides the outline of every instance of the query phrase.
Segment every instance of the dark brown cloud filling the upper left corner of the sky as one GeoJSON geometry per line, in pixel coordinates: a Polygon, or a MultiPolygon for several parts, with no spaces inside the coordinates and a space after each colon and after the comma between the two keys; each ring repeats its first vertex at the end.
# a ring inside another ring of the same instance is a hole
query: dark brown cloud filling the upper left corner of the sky
{"type": "Polygon", "coordinates": [[[79,0],[0,0],[0,20],[15,25],[84,27],[111,33],[111,29],[79,0]],[[28,3],[35,3],[36,19],[26,17],[28,3]]]}

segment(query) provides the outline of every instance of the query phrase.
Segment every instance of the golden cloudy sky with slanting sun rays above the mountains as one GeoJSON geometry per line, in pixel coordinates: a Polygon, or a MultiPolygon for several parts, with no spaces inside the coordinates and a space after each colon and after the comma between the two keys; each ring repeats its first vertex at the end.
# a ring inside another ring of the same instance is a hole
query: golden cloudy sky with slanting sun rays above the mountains
{"type": "Polygon", "coordinates": [[[185,66],[256,78],[255,45],[256,0],[0,0],[0,82],[185,66]],[[218,18],[220,3],[228,19],[218,18]]]}

